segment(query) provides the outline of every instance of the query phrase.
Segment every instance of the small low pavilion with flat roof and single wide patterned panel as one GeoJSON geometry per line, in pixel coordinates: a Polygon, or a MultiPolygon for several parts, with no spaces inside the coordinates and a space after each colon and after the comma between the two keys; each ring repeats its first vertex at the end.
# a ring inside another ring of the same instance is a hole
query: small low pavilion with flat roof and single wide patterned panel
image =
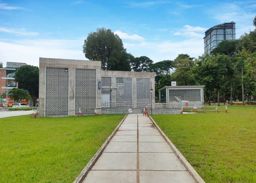
{"type": "Polygon", "coordinates": [[[204,103],[204,85],[164,86],[159,90],[159,102],[179,105],[204,103]]]}

